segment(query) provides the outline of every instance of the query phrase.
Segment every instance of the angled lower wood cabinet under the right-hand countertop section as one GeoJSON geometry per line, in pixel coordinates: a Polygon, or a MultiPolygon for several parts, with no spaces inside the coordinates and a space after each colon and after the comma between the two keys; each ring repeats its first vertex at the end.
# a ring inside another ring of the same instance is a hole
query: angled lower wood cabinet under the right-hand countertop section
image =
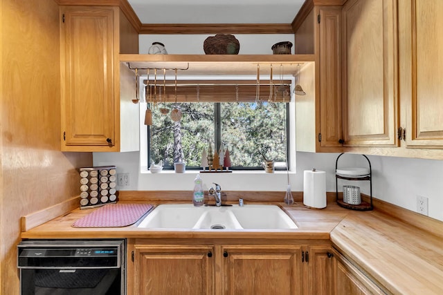
{"type": "Polygon", "coordinates": [[[353,265],[345,256],[332,251],[334,294],[386,294],[383,289],[353,265]]]}

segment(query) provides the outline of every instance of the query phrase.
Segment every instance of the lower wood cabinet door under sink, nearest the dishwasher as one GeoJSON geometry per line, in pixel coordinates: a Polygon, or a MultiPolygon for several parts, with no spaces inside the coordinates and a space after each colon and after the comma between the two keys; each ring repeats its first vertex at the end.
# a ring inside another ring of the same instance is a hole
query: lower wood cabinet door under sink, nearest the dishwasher
{"type": "Polygon", "coordinates": [[[135,294],[213,294],[212,246],[135,245],[135,294]]]}

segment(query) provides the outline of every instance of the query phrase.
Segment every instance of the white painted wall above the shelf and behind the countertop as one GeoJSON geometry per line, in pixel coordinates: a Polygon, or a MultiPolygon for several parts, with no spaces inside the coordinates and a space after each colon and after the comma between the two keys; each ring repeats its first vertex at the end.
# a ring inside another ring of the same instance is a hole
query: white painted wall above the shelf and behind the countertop
{"type": "MultiPolygon", "coordinates": [[[[203,41],[206,35],[141,35],[140,53],[147,53],[154,41],[165,44],[170,54],[204,54],[203,41]]],[[[279,41],[293,41],[292,35],[235,35],[239,39],[241,54],[271,54],[271,46],[279,41]]],[[[143,131],[142,131],[143,132],[143,131]]],[[[296,170],[289,179],[293,191],[303,190],[303,171],[316,168],[326,171],[326,189],[335,191],[336,153],[296,153],[296,170]]],[[[141,153],[93,153],[94,166],[116,165],[117,172],[130,173],[129,187],[119,190],[192,190],[196,171],[184,174],[163,172],[159,174],[141,173],[141,153]]],[[[417,196],[428,198],[429,216],[443,220],[443,161],[421,160],[368,156],[372,164],[372,195],[400,207],[416,211],[417,196]]],[[[339,167],[367,166],[361,155],[343,155],[339,167]]],[[[227,191],[282,191],[282,198],[287,185],[287,175],[283,172],[266,174],[223,173],[202,174],[206,187],[211,182],[218,182],[227,191]]],[[[369,182],[352,182],[369,194],[369,182]]],[[[339,180],[339,189],[343,180],[339,180]]]]}

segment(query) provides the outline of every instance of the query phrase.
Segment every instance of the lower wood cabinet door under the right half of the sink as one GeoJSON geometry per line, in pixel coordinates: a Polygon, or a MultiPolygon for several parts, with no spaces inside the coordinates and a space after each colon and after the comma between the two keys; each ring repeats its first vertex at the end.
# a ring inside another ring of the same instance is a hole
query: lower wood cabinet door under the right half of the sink
{"type": "Polygon", "coordinates": [[[301,247],[238,245],[222,249],[223,294],[301,294],[301,247]]]}

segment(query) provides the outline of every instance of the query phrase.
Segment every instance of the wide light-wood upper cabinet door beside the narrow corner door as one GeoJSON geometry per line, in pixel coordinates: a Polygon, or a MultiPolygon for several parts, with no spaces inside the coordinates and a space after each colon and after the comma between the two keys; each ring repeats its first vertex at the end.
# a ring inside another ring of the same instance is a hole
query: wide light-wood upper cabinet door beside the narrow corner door
{"type": "Polygon", "coordinates": [[[346,146],[396,146],[397,1],[343,6],[343,125],[346,146]]]}

